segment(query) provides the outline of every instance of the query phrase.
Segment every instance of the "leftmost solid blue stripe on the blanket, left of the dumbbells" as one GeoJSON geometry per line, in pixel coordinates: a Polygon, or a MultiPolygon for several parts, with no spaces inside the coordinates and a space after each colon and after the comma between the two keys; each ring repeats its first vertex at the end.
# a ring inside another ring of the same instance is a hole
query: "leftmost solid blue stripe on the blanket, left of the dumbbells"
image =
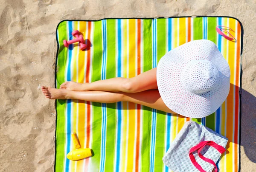
{"type": "MultiPolygon", "coordinates": [[[[69,40],[72,39],[72,22],[68,22],[68,37],[69,40]]],[[[67,81],[71,81],[71,60],[72,60],[72,50],[73,50],[73,44],[69,45],[68,47],[68,63],[67,63],[67,81]]],[[[71,135],[71,100],[67,100],[67,149],[66,152],[70,152],[70,135],[71,135]]],[[[66,168],[65,171],[69,171],[70,167],[70,160],[66,157],[66,168]]]]}

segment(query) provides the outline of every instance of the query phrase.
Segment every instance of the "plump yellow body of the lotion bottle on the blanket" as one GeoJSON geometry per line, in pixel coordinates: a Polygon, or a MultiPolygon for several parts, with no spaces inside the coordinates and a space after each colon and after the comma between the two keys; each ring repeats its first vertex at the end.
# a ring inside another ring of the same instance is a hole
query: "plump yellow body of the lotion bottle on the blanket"
{"type": "Polygon", "coordinates": [[[80,159],[87,158],[92,155],[92,151],[90,148],[80,148],[80,149],[75,149],[70,151],[67,154],[67,159],[72,160],[72,161],[77,161],[80,159]]]}

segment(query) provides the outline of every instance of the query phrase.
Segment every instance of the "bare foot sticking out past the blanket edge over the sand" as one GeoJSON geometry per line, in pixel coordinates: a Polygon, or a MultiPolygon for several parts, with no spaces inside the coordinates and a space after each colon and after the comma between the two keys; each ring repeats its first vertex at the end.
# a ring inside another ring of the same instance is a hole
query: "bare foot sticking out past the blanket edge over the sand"
{"type": "Polygon", "coordinates": [[[48,99],[66,99],[67,91],[51,87],[41,87],[44,96],[48,99]]]}

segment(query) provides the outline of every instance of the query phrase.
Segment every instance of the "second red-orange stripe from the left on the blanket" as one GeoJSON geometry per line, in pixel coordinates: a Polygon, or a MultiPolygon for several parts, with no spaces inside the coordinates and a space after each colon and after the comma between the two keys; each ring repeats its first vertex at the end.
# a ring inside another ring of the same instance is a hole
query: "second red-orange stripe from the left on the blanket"
{"type": "MultiPolygon", "coordinates": [[[[140,74],[140,34],[141,34],[141,20],[137,20],[137,75],[140,74]]],[[[140,108],[141,105],[137,104],[137,138],[136,138],[136,154],[135,154],[135,172],[139,171],[139,157],[140,157],[140,108]]]]}

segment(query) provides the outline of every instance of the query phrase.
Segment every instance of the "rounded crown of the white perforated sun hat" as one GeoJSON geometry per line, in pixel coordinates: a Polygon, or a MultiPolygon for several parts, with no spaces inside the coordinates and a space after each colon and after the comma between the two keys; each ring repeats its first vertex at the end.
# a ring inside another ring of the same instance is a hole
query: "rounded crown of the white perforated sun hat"
{"type": "Polygon", "coordinates": [[[201,94],[211,90],[218,77],[218,69],[209,60],[191,60],[183,68],[181,82],[186,91],[201,94]]]}

